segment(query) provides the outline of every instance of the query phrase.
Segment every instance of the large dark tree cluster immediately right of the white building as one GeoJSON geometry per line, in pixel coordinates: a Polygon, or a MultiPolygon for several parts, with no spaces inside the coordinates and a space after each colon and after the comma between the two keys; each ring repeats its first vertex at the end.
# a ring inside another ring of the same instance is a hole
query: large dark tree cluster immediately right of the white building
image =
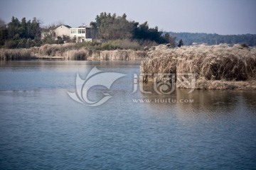
{"type": "Polygon", "coordinates": [[[128,21],[127,15],[117,16],[116,13],[100,13],[97,15],[94,22],[90,23],[92,28],[97,28],[99,38],[102,40],[150,40],[158,44],[170,43],[175,45],[175,38],[169,33],[163,35],[159,28],[149,28],[147,22],[139,24],[135,21],[128,21]]]}

